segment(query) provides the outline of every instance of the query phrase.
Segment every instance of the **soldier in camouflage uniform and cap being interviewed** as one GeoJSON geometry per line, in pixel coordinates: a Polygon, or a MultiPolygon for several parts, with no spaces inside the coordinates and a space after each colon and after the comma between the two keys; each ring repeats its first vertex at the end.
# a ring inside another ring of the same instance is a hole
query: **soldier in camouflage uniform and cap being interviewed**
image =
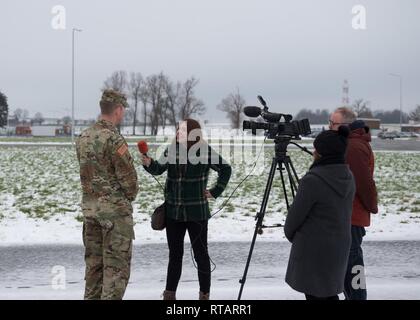
{"type": "Polygon", "coordinates": [[[130,277],[137,173],[116,125],[127,100],[105,90],[101,118],[76,141],[82,184],[85,299],[122,299],[130,277]]]}

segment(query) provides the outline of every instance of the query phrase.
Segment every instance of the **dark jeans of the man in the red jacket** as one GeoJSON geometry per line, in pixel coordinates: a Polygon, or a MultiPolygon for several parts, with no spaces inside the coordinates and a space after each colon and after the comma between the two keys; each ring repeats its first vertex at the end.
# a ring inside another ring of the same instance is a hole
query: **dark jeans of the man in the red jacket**
{"type": "Polygon", "coordinates": [[[344,280],[344,295],[347,300],[366,300],[367,299],[367,290],[366,290],[366,278],[364,276],[364,262],[363,262],[363,250],[362,250],[362,241],[365,236],[366,231],[364,227],[351,226],[351,248],[349,254],[349,261],[347,265],[346,278],[344,280]],[[352,273],[352,270],[355,266],[360,266],[363,273],[360,273],[360,267],[356,267],[356,273],[352,273]],[[358,279],[354,279],[358,277],[358,279]],[[354,281],[353,281],[354,279],[354,281]],[[356,281],[357,280],[357,281],[356,281]],[[357,286],[362,285],[363,288],[354,288],[353,284],[357,286]],[[361,283],[362,282],[362,283],[361,283]]]}

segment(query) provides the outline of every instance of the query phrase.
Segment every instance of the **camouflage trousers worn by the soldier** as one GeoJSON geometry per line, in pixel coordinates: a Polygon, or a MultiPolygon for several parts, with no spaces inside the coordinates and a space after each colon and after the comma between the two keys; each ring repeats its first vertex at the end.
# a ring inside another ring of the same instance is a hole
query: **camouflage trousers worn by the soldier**
{"type": "Polygon", "coordinates": [[[85,299],[120,300],[130,278],[132,216],[112,220],[85,218],[85,299]]]}

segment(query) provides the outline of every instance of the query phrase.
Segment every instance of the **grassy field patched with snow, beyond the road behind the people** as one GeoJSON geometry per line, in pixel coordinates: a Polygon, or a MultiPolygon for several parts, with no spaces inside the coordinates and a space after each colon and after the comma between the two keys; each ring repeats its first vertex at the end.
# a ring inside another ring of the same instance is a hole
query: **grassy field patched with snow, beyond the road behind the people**
{"type": "MultiPolygon", "coordinates": [[[[260,148],[221,146],[232,163],[233,176],[223,196],[211,203],[215,212],[242,181],[260,148]]],[[[158,145],[149,152],[155,155],[158,145]]],[[[161,146],[160,146],[161,148],[161,146]]],[[[273,156],[265,145],[252,175],[238,188],[231,201],[210,221],[210,241],[249,241],[254,216],[273,156]]],[[[136,243],[159,243],[165,234],[150,228],[150,214],[163,201],[159,185],[139,164],[139,154],[130,148],[139,175],[140,192],[134,202],[136,243]]],[[[289,152],[302,176],[311,163],[307,154],[289,152]]],[[[372,217],[366,240],[420,240],[420,152],[377,151],[375,179],[379,214],[372,217]]],[[[80,244],[80,181],[74,149],[70,146],[0,146],[0,245],[80,244]]],[[[212,173],[210,185],[216,175],[212,173]]],[[[159,177],[163,183],[165,174],[159,177]]],[[[286,205],[279,175],[270,195],[266,224],[282,223],[286,205]]],[[[266,229],[259,241],[284,240],[283,231],[266,229]]]]}

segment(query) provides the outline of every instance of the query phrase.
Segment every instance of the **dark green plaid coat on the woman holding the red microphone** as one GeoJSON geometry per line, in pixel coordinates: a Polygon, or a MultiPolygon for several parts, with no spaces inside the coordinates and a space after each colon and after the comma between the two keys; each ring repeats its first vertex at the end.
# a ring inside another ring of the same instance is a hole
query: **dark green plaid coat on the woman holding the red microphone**
{"type": "Polygon", "coordinates": [[[209,191],[219,197],[229,182],[231,166],[206,143],[197,143],[189,151],[171,144],[160,157],[144,167],[153,175],[168,171],[165,184],[166,216],[179,221],[203,221],[210,218],[204,196],[210,169],[218,173],[216,185],[209,191]],[[188,152],[188,157],[187,157],[188,152]]]}

